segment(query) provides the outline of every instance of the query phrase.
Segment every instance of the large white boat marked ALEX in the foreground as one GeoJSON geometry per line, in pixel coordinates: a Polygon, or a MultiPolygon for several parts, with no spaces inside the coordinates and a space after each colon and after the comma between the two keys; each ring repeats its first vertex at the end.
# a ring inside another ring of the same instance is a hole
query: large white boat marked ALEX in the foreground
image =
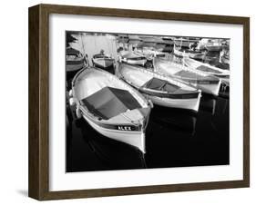
{"type": "Polygon", "coordinates": [[[111,73],[88,67],[74,77],[70,95],[78,118],[83,116],[102,135],[146,152],[145,131],[152,102],[138,91],[111,73]]]}

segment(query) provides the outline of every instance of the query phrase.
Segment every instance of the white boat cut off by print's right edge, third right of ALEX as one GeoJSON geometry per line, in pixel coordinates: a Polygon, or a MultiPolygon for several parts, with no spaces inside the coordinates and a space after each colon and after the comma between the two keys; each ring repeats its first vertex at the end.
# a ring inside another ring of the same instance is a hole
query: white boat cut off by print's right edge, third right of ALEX
{"type": "Polygon", "coordinates": [[[197,71],[211,74],[220,78],[229,78],[230,77],[230,71],[229,70],[223,70],[217,67],[214,67],[208,63],[201,63],[199,61],[190,59],[190,58],[184,58],[183,62],[185,65],[187,65],[190,68],[193,68],[197,71]]]}

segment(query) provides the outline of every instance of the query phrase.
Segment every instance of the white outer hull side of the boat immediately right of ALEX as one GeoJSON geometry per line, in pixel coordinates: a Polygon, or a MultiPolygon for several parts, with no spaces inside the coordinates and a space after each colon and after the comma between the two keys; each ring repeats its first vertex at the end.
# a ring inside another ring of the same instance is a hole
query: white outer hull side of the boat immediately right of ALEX
{"type": "Polygon", "coordinates": [[[191,99],[160,98],[152,95],[147,95],[147,97],[153,103],[158,104],[160,106],[186,109],[186,110],[198,112],[200,107],[201,94],[198,95],[198,98],[191,98],[191,99]]]}

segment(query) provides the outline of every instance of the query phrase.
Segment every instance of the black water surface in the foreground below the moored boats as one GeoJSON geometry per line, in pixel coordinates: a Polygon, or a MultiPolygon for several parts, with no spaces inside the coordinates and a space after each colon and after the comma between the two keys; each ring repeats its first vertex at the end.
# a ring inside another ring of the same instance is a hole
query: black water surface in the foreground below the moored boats
{"type": "Polygon", "coordinates": [[[203,94],[198,113],[155,105],[144,155],[99,134],[67,106],[67,172],[229,164],[229,98],[220,96],[203,94]]]}

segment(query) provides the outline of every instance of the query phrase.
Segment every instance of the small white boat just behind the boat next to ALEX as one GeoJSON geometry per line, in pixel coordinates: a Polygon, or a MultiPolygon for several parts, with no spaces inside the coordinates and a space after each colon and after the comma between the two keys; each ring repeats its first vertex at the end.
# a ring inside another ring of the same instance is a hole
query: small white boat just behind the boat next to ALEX
{"type": "Polygon", "coordinates": [[[128,64],[144,65],[147,62],[147,58],[144,55],[129,51],[121,51],[119,58],[120,62],[128,64]]]}

